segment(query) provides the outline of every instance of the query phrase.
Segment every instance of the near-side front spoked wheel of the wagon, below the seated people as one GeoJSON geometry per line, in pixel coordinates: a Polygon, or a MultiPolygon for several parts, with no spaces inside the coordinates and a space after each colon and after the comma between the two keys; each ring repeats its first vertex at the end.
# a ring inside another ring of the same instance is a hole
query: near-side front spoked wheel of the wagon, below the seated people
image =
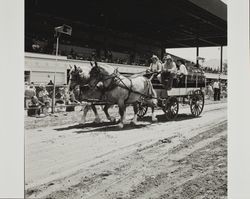
{"type": "Polygon", "coordinates": [[[176,119],[179,112],[179,102],[177,98],[171,97],[167,99],[162,109],[166,115],[167,120],[176,119]]]}

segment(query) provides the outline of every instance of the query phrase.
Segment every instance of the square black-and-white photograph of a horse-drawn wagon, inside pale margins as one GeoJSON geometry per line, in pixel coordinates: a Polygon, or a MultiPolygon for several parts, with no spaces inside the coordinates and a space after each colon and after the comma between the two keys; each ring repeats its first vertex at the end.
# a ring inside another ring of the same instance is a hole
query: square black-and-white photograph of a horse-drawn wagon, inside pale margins
{"type": "Polygon", "coordinates": [[[25,198],[227,198],[227,0],[24,3],[25,198]]]}

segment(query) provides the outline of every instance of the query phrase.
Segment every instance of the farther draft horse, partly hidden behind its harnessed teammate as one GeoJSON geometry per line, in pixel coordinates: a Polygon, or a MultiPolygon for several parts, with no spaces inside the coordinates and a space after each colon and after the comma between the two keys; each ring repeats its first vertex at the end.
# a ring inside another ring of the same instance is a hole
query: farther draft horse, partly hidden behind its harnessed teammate
{"type": "MultiPolygon", "coordinates": [[[[69,90],[72,92],[74,92],[75,94],[79,95],[80,99],[77,99],[78,101],[84,101],[84,100],[88,100],[88,99],[101,99],[102,98],[102,92],[100,91],[100,89],[95,88],[95,89],[90,89],[87,86],[87,82],[89,81],[89,75],[88,72],[90,71],[91,66],[86,67],[86,68],[80,68],[80,67],[76,67],[74,65],[74,67],[71,67],[70,72],[69,72],[69,90]],[[76,88],[80,88],[80,90],[78,90],[76,92],[76,88]]],[[[103,111],[107,117],[107,119],[111,122],[115,122],[115,118],[110,116],[108,113],[108,109],[110,108],[111,105],[105,105],[103,108],[103,111]]],[[[89,110],[93,110],[94,114],[95,114],[95,123],[100,123],[101,119],[99,117],[99,114],[96,110],[95,105],[93,105],[92,103],[87,103],[87,105],[84,107],[83,109],[83,115],[82,115],[82,119],[81,119],[81,124],[85,124],[86,122],[86,116],[89,110]]]]}

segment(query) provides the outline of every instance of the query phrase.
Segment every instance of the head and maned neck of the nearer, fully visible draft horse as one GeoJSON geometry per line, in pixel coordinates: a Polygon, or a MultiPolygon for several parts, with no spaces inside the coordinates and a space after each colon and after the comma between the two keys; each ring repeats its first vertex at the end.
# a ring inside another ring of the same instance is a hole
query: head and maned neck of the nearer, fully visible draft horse
{"type": "MultiPolygon", "coordinates": [[[[93,64],[91,63],[93,66],[93,64]]],[[[95,65],[89,72],[89,85],[90,87],[96,87],[99,82],[109,81],[114,74],[115,69],[109,65],[98,65],[95,62],[95,65]]]]}

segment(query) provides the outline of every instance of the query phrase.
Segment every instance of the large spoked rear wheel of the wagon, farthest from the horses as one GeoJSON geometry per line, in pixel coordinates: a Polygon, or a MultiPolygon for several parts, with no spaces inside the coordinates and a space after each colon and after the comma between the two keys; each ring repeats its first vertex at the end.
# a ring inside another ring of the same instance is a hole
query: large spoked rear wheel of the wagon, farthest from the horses
{"type": "Polygon", "coordinates": [[[190,110],[193,116],[198,117],[204,108],[204,94],[196,90],[190,99],[190,110]]]}

